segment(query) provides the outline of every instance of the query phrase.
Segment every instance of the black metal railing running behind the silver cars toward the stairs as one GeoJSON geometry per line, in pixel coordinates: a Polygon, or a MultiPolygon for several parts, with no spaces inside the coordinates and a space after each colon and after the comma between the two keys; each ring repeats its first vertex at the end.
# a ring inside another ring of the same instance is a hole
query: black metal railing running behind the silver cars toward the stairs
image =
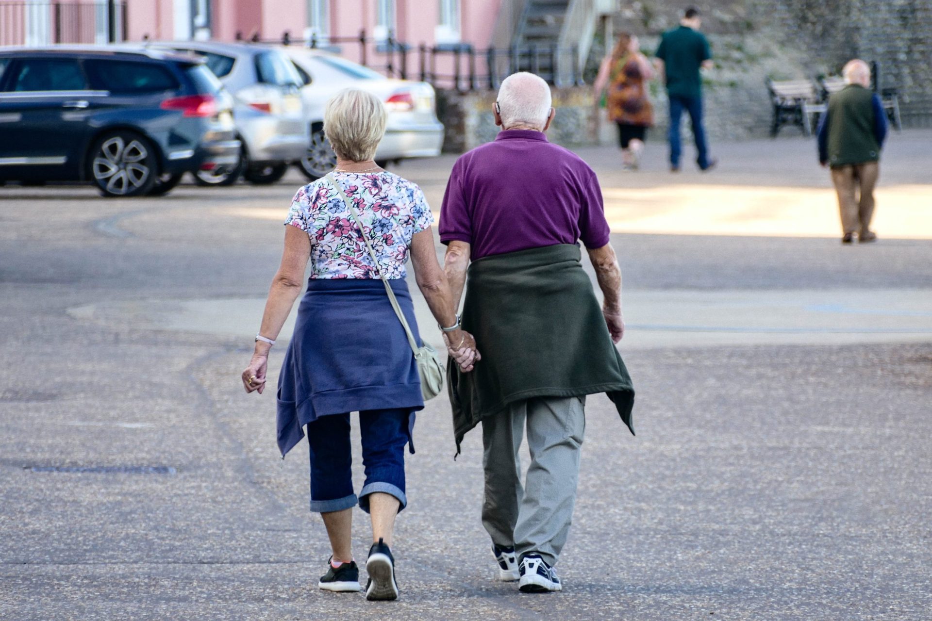
{"type": "Polygon", "coordinates": [[[366,67],[390,77],[418,79],[434,88],[449,88],[462,92],[499,88],[501,80],[517,71],[540,75],[556,87],[582,86],[579,48],[556,45],[525,47],[487,47],[478,49],[469,44],[417,47],[396,40],[391,34],[384,39],[369,36],[365,30],[356,36],[328,36],[295,39],[284,32],[278,39],[262,39],[258,34],[246,38],[237,33],[237,40],[253,43],[304,46],[318,49],[344,50],[355,47],[355,58],[366,67]]]}

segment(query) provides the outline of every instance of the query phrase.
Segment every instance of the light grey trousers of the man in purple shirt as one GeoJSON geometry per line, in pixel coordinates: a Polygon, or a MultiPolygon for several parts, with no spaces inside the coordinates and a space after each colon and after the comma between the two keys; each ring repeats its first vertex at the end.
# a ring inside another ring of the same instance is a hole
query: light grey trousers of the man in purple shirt
{"type": "Polygon", "coordinates": [[[496,546],[556,564],[576,502],[584,411],[585,397],[537,397],[483,419],[482,523],[496,546]],[[522,486],[518,450],[526,423],[530,466],[522,486]]]}

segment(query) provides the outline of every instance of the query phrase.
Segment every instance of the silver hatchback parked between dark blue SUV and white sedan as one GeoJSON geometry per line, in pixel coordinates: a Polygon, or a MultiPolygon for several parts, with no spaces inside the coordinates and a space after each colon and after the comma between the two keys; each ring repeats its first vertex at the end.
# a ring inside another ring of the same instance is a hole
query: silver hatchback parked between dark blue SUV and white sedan
{"type": "Polygon", "coordinates": [[[202,170],[198,182],[228,185],[240,174],[246,181],[274,183],[288,165],[308,151],[308,113],[301,96],[303,80],[280,50],[245,43],[176,41],[154,43],[203,56],[207,67],[233,95],[233,118],[243,143],[240,167],[202,170]]]}

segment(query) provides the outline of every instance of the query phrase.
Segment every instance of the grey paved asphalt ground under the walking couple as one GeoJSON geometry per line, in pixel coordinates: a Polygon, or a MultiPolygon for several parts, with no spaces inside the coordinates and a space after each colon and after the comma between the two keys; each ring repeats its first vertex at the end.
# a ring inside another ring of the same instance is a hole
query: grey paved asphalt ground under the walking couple
{"type": "MultiPolygon", "coordinates": [[[[589,399],[565,587],[544,596],[490,579],[480,438],[453,460],[445,397],[407,462],[401,600],[316,588],[306,449],[282,462],[274,392],[238,381],[298,175],[136,200],[0,188],[0,619],[932,618],[930,142],[894,135],[884,162],[879,216],[913,210],[912,238],[879,220],[854,248],[760,206],[728,235],[624,233],[671,188],[681,212],[694,188],[729,206],[776,188],[775,212],[828,196],[812,142],[719,144],[720,170],[678,177],[657,146],[637,175],[580,152],[612,197],[638,436],[589,399]]],[[[452,163],[397,171],[436,209],[452,163]]]]}

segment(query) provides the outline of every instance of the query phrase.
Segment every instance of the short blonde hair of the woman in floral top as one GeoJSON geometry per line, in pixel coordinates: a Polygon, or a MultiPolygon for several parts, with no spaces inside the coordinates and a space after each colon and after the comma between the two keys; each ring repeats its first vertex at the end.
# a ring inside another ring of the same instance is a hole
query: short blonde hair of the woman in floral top
{"type": "Polygon", "coordinates": [[[376,155],[385,135],[385,104],[372,93],[344,88],[323,109],[323,133],[336,155],[363,162],[376,155]]]}

